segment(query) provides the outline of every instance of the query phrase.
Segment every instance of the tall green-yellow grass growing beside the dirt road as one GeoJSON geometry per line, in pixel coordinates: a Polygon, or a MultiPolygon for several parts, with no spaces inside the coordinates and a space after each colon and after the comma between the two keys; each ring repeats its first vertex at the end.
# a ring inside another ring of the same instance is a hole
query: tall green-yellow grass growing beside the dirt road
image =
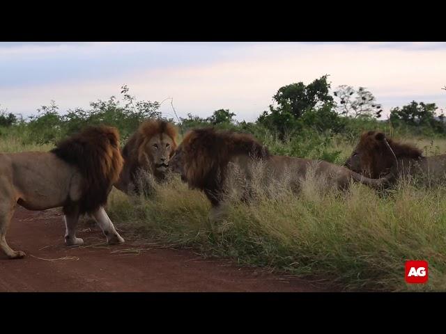
{"type": "MultiPolygon", "coordinates": [[[[429,155],[446,152],[444,139],[410,141],[429,155]]],[[[280,145],[272,143],[274,150],[292,149],[280,145]]],[[[293,152],[303,148],[311,157],[322,152],[312,143],[290,145],[299,145],[293,152]]],[[[341,164],[354,145],[333,137],[323,150],[339,151],[335,162],[341,164]]],[[[50,148],[25,145],[13,137],[0,141],[1,152],[50,148]]],[[[406,181],[378,193],[360,184],[338,192],[320,183],[310,178],[300,196],[277,186],[272,193],[260,193],[251,205],[229,207],[226,218],[211,222],[203,193],[174,177],[156,186],[151,198],[130,198],[114,189],[107,212],[117,227],[144,238],[240,264],[325,278],[348,291],[446,291],[444,186],[426,188],[406,181]],[[427,260],[429,283],[407,285],[406,260],[427,260]]]]}

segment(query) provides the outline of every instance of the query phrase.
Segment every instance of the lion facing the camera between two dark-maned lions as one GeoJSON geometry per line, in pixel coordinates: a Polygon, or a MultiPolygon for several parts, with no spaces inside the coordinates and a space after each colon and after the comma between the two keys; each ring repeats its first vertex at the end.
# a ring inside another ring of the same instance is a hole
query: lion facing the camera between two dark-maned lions
{"type": "Polygon", "coordinates": [[[122,150],[125,162],[114,186],[124,193],[140,194],[147,191],[147,185],[141,180],[144,173],[153,175],[156,182],[164,181],[169,159],[176,150],[177,136],[176,127],[164,120],[141,123],[122,150]]]}

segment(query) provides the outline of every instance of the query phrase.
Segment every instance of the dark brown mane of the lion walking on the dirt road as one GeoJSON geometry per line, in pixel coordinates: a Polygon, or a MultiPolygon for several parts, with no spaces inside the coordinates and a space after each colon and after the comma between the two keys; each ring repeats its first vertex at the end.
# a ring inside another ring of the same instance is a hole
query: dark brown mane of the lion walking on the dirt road
{"type": "Polygon", "coordinates": [[[79,168],[84,182],[82,198],[76,204],[79,205],[81,214],[91,213],[105,205],[123,167],[119,133],[116,128],[88,127],[79,134],[61,141],[51,152],[79,168]]]}

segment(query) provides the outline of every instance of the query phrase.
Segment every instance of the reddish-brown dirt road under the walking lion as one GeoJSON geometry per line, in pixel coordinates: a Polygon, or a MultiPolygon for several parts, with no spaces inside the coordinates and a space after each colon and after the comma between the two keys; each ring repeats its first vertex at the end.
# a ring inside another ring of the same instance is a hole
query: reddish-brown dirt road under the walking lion
{"type": "MultiPolygon", "coordinates": [[[[116,225],[116,228],[119,228],[116,225]]],[[[22,260],[0,255],[0,292],[323,292],[321,285],[280,277],[225,260],[205,260],[192,250],[161,248],[132,239],[107,246],[97,227],[79,227],[84,246],[63,244],[60,210],[18,208],[8,244],[22,260]]]]}

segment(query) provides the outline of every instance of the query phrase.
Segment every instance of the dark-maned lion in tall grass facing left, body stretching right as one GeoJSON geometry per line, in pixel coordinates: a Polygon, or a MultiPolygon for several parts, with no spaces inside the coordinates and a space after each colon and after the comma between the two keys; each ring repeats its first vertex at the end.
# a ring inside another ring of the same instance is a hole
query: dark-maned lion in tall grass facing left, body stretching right
{"type": "MultiPolygon", "coordinates": [[[[258,182],[256,179],[259,175],[252,172],[254,161],[261,161],[267,170],[268,177],[263,182],[268,184],[287,177],[289,186],[295,192],[300,190],[300,184],[312,166],[316,166],[316,177],[327,177],[329,184],[339,189],[347,189],[352,180],[379,188],[393,177],[389,173],[374,180],[327,161],[272,155],[268,148],[249,134],[216,130],[213,127],[188,132],[171,159],[170,168],[174,173],[179,173],[181,180],[187,182],[190,188],[203,191],[210,200],[213,212],[218,212],[226,198],[224,183],[229,175],[229,166],[237,166],[242,170],[243,178],[249,185],[258,182]]],[[[249,198],[247,186],[241,199],[249,198]]]]}

